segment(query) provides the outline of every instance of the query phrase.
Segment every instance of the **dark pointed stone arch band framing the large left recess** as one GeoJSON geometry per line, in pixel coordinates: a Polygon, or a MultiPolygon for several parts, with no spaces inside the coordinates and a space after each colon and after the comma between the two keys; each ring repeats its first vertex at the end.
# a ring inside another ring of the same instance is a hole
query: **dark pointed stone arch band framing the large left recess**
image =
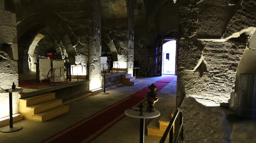
{"type": "Polygon", "coordinates": [[[74,42],[74,40],[72,40],[73,42],[70,40],[70,38],[74,39],[75,35],[70,31],[71,28],[67,23],[63,20],[59,20],[61,17],[57,15],[56,17],[58,20],[53,19],[52,16],[35,13],[26,17],[17,25],[19,73],[27,71],[27,69],[24,69],[27,65],[24,65],[24,63],[28,63],[29,47],[42,31],[44,31],[44,34],[50,35],[51,38],[53,38],[52,40],[54,40],[53,42],[57,42],[58,45],[63,46],[69,55],[69,62],[75,63],[74,46],[76,46],[77,43],[74,42]]]}

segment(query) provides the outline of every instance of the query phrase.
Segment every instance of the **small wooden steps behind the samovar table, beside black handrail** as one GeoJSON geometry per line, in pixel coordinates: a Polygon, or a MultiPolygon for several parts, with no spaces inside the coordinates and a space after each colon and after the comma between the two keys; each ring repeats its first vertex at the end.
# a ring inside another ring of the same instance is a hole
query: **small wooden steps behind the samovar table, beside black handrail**
{"type": "MultiPolygon", "coordinates": [[[[147,126],[148,136],[162,137],[163,133],[165,132],[167,126],[170,123],[170,120],[174,115],[174,111],[175,110],[166,110],[164,114],[161,114],[159,117],[154,118],[147,126]]],[[[169,138],[169,134],[167,138],[169,138]]]]}

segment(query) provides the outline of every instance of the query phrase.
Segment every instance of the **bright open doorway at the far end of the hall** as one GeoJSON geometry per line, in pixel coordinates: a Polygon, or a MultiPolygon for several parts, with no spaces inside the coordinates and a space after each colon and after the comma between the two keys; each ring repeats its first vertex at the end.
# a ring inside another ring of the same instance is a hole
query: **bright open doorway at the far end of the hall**
{"type": "Polygon", "coordinates": [[[162,46],[162,74],[175,74],[176,40],[170,40],[162,46]]]}

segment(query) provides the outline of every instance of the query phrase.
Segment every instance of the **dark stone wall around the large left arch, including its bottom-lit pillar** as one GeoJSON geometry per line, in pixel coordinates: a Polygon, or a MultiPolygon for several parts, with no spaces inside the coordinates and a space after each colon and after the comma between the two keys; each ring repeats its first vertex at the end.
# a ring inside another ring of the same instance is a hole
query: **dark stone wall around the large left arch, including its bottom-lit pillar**
{"type": "MultiPolygon", "coordinates": [[[[67,51],[69,62],[87,65],[90,89],[100,87],[100,0],[19,1],[16,11],[19,13],[20,49],[25,48],[22,47],[25,41],[31,40],[22,39],[27,33],[36,34],[49,27],[54,33],[53,38],[67,51]]],[[[22,57],[24,51],[20,50],[19,53],[22,57]]]]}

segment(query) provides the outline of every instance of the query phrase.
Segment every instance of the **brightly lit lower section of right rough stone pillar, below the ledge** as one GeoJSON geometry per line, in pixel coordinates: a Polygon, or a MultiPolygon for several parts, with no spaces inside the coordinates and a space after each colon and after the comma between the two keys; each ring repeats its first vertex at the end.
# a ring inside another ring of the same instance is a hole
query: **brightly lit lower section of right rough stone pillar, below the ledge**
{"type": "MultiPolygon", "coordinates": [[[[218,40],[201,40],[200,42],[203,48],[201,52],[199,50],[180,51],[183,52],[178,58],[180,69],[178,87],[181,91],[177,97],[179,98],[183,92],[206,106],[227,103],[234,90],[237,66],[245,45],[218,40]],[[180,60],[181,58],[183,60],[180,60]]],[[[184,46],[188,47],[189,44],[181,47],[184,46]]]]}

